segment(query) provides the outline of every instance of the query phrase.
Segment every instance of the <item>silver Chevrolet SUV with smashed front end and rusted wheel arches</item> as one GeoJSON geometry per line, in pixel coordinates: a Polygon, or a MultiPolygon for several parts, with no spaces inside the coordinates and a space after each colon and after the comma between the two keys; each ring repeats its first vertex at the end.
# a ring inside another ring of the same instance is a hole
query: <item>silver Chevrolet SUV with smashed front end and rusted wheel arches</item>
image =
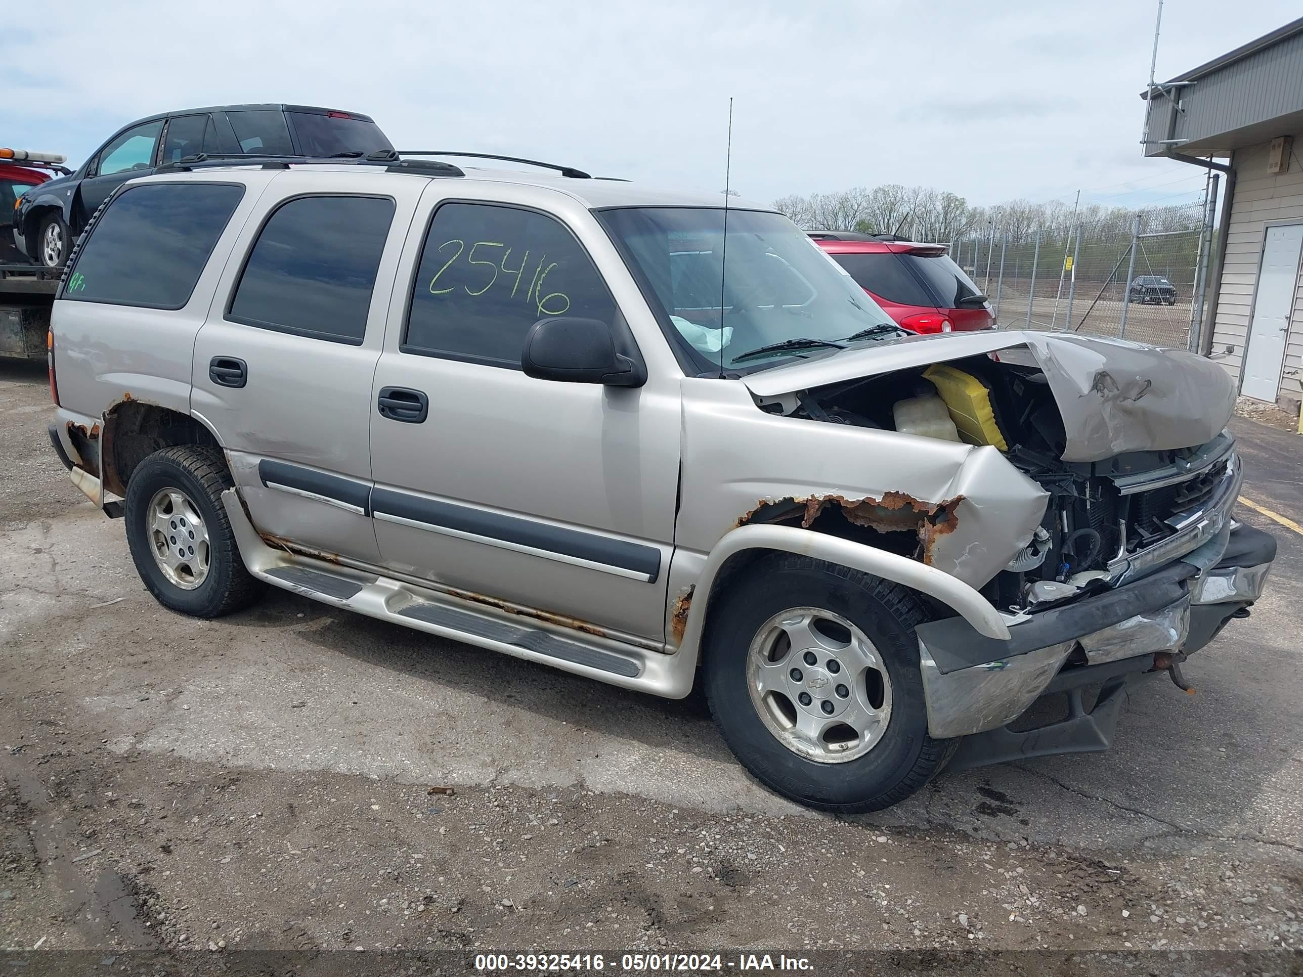
{"type": "Polygon", "coordinates": [[[766,207],[573,169],[182,162],[107,202],[52,322],[53,448],[165,607],[271,585],[700,685],[826,810],[1105,749],[1276,554],[1221,366],[911,336],[766,207]]]}

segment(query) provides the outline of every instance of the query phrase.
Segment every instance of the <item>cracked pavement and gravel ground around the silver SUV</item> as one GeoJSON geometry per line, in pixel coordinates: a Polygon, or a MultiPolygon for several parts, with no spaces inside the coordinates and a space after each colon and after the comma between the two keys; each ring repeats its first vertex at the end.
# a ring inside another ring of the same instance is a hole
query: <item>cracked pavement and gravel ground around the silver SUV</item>
{"type": "MultiPolygon", "coordinates": [[[[696,697],[281,591],[219,621],[164,611],[68,482],[47,405],[43,367],[0,365],[0,946],[23,973],[357,950],[349,972],[457,951],[452,973],[483,948],[1303,965],[1303,535],[1259,511],[1239,518],[1277,534],[1277,569],[1187,666],[1197,696],[1149,683],[1110,752],[843,819],[751,782],[696,697]]],[[[1303,521],[1296,435],[1234,425],[1244,495],[1303,521]]]]}

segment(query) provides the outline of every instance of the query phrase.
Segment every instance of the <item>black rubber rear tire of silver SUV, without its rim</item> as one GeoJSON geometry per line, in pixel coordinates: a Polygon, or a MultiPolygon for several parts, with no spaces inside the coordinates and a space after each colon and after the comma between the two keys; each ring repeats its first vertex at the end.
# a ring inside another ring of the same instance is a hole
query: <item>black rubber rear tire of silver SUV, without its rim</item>
{"type": "Polygon", "coordinates": [[[218,513],[220,500],[212,499],[203,483],[185,466],[168,457],[151,455],[132,473],[126,486],[126,542],[141,580],[155,599],[164,607],[197,617],[214,616],[223,602],[223,595],[231,586],[233,567],[223,554],[233,552],[235,547],[223,546],[216,538],[227,529],[227,522],[218,513]],[[149,507],[160,488],[176,488],[185,492],[203,517],[208,530],[208,576],[194,590],[184,590],[169,581],[154,559],[154,543],[149,528],[149,507]]]}

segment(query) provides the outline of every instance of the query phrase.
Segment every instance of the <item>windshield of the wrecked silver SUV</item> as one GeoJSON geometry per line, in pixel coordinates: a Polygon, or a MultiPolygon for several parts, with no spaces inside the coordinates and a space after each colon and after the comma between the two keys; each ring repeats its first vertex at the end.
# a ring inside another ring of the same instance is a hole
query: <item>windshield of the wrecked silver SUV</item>
{"type": "Polygon", "coordinates": [[[702,373],[817,356],[874,326],[891,326],[881,306],[780,214],[730,210],[727,242],[722,208],[629,207],[598,216],[655,293],[667,332],[702,373]],[[756,352],[777,343],[790,345],[756,352]]]}

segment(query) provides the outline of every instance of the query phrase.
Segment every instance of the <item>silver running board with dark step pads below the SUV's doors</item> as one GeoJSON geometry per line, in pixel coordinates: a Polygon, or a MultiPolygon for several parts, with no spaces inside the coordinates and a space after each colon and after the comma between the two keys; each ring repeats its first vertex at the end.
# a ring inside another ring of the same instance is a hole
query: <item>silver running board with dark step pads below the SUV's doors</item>
{"type": "Polygon", "coordinates": [[[433,588],[274,548],[253,528],[235,488],[224,491],[222,500],[245,567],[274,586],[628,689],[667,698],[683,698],[692,690],[696,667],[685,657],[650,651],[433,588]]]}

